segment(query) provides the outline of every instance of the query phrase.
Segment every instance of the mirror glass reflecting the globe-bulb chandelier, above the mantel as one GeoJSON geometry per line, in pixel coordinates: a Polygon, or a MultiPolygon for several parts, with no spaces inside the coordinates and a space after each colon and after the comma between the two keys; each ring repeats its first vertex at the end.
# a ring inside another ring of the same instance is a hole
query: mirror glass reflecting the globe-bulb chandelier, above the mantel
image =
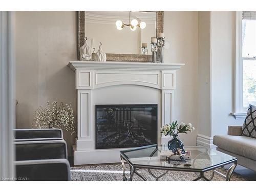
{"type": "Polygon", "coordinates": [[[105,53],[152,54],[156,12],[86,11],[85,16],[85,34],[96,52],[102,42],[105,53]]]}

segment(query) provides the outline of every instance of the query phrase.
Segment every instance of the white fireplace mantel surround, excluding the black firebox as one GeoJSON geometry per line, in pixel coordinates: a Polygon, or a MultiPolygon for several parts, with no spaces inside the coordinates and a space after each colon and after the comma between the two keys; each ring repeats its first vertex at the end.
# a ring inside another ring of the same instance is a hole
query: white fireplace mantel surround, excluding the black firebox
{"type": "Polygon", "coordinates": [[[183,63],[70,61],[68,66],[77,90],[75,165],[119,162],[120,148],[95,149],[95,104],[154,103],[158,126],[172,121],[176,71],[183,63]]]}

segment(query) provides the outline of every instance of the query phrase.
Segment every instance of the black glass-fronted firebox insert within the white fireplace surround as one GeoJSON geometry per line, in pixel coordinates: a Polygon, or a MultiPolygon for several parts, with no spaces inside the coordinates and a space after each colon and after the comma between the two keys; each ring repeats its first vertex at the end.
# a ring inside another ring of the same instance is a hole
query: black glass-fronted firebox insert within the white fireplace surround
{"type": "Polygon", "coordinates": [[[96,105],[96,149],[157,143],[157,104],[96,105]]]}

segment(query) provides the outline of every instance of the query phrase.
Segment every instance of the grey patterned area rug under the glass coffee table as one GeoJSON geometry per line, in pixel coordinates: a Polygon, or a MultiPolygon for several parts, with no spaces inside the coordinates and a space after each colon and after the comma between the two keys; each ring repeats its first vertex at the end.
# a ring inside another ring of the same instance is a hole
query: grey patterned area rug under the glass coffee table
{"type": "MultiPolygon", "coordinates": [[[[129,176],[129,166],[126,166],[125,170],[126,176],[129,176]]],[[[219,168],[218,171],[222,174],[226,174],[225,168],[219,168]]],[[[152,172],[157,176],[164,173],[163,170],[152,170],[152,172]]],[[[155,181],[155,178],[148,173],[147,169],[139,169],[138,173],[147,181],[155,181]]],[[[206,172],[204,175],[206,178],[209,178],[211,172],[206,172]]],[[[169,171],[165,176],[161,177],[159,181],[193,181],[197,177],[198,176],[195,173],[169,171]]],[[[122,166],[121,164],[74,166],[71,167],[71,179],[72,181],[122,181],[122,166]]],[[[230,180],[246,181],[245,178],[237,173],[233,173],[230,180]]],[[[143,180],[134,174],[133,181],[143,180]]],[[[225,181],[225,178],[215,173],[212,181],[225,181]]]]}

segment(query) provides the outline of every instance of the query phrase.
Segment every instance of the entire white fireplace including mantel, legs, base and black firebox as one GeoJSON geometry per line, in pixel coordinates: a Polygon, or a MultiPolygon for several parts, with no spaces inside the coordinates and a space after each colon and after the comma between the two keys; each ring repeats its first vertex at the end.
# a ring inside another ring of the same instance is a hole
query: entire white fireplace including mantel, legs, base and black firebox
{"type": "Polygon", "coordinates": [[[176,71],[183,65],[70,61],[77,92],[74,164],[120,162],[120,150],[125,147],[166,144],[169,137],[162,137],[156,128],[173,120],[176,71]],[[120,105],[116,104],[122,104],[122,112],[114,111],[115,108],[120,110],[120,105]],[[136,106],[140,106],[136,113],[130,110],[136,106]],[[112,115],[111,110],[108,113],[102,111],[109,107],[114,108],[112,115]]]}

